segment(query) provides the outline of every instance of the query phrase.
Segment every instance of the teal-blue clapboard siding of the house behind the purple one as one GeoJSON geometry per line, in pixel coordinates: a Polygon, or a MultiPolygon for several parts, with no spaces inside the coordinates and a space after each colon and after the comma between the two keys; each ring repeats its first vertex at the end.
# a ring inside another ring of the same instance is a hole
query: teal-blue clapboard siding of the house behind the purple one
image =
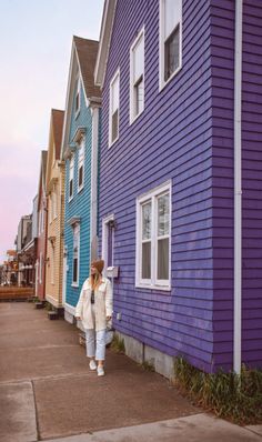
{"type": "MultiPolygon", "coordinates": [[[[72,109],[74,109],[75,91],[72,109]]],[[[74,153],[74,180],[73,199],[69,201],[69,161],[66,164],[66,219],[64,219],[64,244],[68,247],[68,272],[66,302],[75,307],[83,281],[89,275],[90,268],[90,189],[91,189],[91,144],[92,144],[92,117],[90,109],[87,108],[83,89],[80,91],[80,113],[75,118],[72,111],[70,125],[70,141],[78,128],[85,128],[84,148],[84,187],[78,193],[78,150],[74,153]],[[79,287],[72,287],[73,270],[73,230],[68,221],[72,217],[80,217],[80,273],[79,287]]]]}

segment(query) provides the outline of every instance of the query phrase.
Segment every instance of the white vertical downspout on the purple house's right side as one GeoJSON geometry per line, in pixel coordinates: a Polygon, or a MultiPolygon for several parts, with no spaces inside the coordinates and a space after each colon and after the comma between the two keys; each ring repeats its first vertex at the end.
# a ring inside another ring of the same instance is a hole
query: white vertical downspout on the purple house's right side
{"type": "Polygon", "coordinates": [[[243,0],[235,0],[234,40],[234,350],[233,370],[241,373],[242,343],[242,20],[243,0]]]}

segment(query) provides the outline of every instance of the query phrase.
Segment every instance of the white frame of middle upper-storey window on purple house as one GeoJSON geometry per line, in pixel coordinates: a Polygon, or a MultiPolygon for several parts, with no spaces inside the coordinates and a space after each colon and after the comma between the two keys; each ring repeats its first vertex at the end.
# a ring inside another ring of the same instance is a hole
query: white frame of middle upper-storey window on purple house
{"type": "Polygon", "coordinates": [[[144,27],[139,32],[138,37],[135,38],[134,42],[130,48],[130,124],[132,124],[143,112],[144,110],[144,27]],[[135,106],[135,83],[133,82],[133,74],[134,74],[134,49],[138,46],[139,41],[142,40],[143,47],[143,107],[142,110],[135,114],[134,106],[135,106]]]}

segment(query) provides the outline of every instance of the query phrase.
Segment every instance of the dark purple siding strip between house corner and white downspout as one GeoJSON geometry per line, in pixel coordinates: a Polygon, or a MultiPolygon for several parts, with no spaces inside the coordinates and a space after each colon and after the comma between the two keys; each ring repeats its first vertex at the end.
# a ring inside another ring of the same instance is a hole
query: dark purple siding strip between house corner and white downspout
{"type": "Polygon", "coordinates": [[[232,369],[233,358],[234,14],[234,2],[211,1],[215,369],[232,369]]]}

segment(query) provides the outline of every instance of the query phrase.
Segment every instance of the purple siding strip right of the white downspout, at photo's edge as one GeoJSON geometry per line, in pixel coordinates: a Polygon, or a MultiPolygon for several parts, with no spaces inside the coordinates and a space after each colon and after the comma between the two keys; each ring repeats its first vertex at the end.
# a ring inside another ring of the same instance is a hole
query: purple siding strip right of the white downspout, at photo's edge
{"type": "Polygon", "coordinates": [[[244,0],[243,19],[243,340],[242,359],[262,366],[262,8],[244,0]],[[255,333],[254,333],[255,331],[255,333]]]}

